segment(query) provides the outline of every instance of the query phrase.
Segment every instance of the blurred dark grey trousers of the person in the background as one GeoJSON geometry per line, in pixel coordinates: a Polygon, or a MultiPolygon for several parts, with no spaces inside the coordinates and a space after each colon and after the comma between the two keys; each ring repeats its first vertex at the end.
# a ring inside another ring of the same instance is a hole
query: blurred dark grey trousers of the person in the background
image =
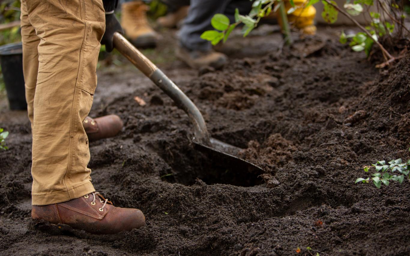
{"type": "MultiPolygon", "coordinates": [[[[175,0],[167,0],[172,2],[175,0]]],[[[209,51],[212,45],[200,36],[206,30],[213,30],[211,19],[215,14],[225,14],[231,23],[235,22],[235,8],[240,14],[251,11],[252,2],[249,0],[191,0],[188,16],[179,32],[180,44],[189,50],[209,51]]]]}

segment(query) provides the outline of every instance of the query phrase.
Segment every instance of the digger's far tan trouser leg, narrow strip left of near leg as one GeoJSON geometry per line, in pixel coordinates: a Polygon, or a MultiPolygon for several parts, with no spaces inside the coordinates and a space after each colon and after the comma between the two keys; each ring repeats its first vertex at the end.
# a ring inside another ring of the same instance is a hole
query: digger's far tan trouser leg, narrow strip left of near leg
{"type": "Polygon", "coordinates": [[[23,74],[25,82],[25,96],[27,101],[27,114],[33,129],[33,104],[39,71],[39,46],[40,39],[36,30],[31,25],[27,14],[25,0],[21,1],[21,41],[23,42],[23,74]]]}

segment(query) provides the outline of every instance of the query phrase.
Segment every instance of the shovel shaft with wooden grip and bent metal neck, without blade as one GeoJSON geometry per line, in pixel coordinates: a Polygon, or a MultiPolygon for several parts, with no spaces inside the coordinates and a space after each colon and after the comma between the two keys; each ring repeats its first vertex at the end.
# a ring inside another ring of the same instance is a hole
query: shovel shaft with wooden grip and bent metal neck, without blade
{"type": "Polygon", "coordinates": [[[166,95],[171,97],[180,109],[187,113],[189,120],[194,125],[195,140],[205,145],[211,145],[205,120],[194,102],[192,102],[188,96],[171,81],[171,79],[157,68],[154,63],[125,39],[123,35],[115,32],[113,43],[114,48],[116,48],[118,52],[130,60],[134,66],[161,88],[166,95]]]}

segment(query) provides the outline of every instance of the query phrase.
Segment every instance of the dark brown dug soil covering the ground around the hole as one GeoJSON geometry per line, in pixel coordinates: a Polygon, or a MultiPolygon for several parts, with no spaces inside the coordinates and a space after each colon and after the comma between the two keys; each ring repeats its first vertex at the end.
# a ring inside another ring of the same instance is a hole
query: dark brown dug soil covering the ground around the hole
{"type": "Polygon", "coordinates": [[[354,181],[369,175],[363,165],[409,158],[410,55],[378,70],[321,30],[283,49],[277,35],[234,38],[259,40],[270,53],[233,54],[222,70],[200,75],[180,61],[160,65],[212,136],[244,148],[262,177],[244,178],[194,150],[186,114],[140,73],[100,72],[90,115],[116,113],[125,128],[91,143],[91,176],[116,206],[145,213],[139,230],[34,228],[30,125],[25,113],[2,110],[10,150],[0,152],[0,254],[296,255],[299,247],[298,255],[409,255],[409,180],[380,189],[354,181]]]}

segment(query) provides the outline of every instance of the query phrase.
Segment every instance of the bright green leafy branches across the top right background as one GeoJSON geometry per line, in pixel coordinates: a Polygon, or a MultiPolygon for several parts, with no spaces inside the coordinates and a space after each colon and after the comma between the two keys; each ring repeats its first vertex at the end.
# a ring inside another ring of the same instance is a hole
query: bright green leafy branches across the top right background
{"type": "MultiPolygon", "coordinates": [[[[280,7],[283,7],[284,0],[251,0],[254,1],[251,12],[244,16],[240,15],[238,10],[235,11],[235,23],[230,24],[230,20],[223,14],[215,14],[211,20],[211,25],[214,30],[207,30],[201,35],[202,39],[210,41],[216,45],[221,40],[225,43],[228,36],[237,25],[244,24],[242,29],[243,36],[247,36],[259,23],[260,19],[269,15],[272,11],[276,12],[280,7]]],[[[319,0],[305,0],[302,5],[295,5],[294,0],[289,0],[292,6],[287,14],[292,14],[296,9],[306,8],[310,5],[319,2],[319,0]]],[[[410,34],[408,28],[404,26],[405,5],[404,1],[392,0],[346,0],[342,9],[337,6],[333,0],[321,0],[323,3],[322,17],[328,23],[335,23],[339,12],[349,18],[360,30],[357,34],[346,35],[343,31],[340,36],[341,43],[348,43],[352,50],[356,52],[364,51],[367,56],[370,55],[373,45],[376,43],[383,53],[385,62],[376,67],[382,68],[389,65],[394,60],[401,56],[393,57],[383,45],[379,42],[383,36],[392,36],[396,32],[399,38],[403,37],[405,32],[410,34]],[[390,3],[387,5],[387,3],[390,3]],[[377,12],[369,11],[371,6],[376,6],[377,12]],[[353,16],[364,15],[368,24],[362,26],[353,16]],[[387,18],[390,21],[387,21],[387,18]]],[[[285,37],[286,38],[286,37],[285,37]]],[[[289,38],[289,35],[287,35],[289,38]]]]}

